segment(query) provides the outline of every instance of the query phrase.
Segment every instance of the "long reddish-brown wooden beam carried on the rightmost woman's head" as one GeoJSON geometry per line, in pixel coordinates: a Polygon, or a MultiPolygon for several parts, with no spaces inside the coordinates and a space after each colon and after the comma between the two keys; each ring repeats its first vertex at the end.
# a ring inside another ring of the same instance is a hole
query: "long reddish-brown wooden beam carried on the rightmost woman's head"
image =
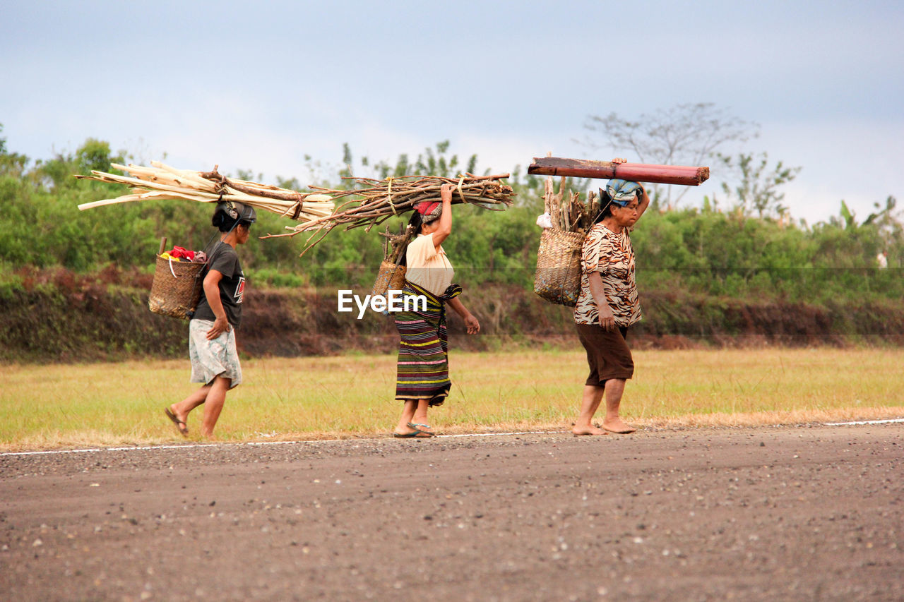
{"type": "Polygon", "coordinates": [[[564,159],[558,156],[534,157],[528,174],[564,175],[574,178],[619,178],[634,182],[676,183],[699,186],[710,177],[709,167],[689,165],[649,165],[644,163],[610,163],[589,159],[564,159]]]}

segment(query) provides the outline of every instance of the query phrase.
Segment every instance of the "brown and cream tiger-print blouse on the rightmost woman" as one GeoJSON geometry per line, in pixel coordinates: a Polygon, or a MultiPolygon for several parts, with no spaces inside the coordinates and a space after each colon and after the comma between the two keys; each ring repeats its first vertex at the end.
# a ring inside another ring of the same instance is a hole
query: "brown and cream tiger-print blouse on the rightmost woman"
{"type": "Polygon", "coordinates": [[[588,274],[597,271],[603,280],[603,290],[616,325],[630,326],[640,318],[640,301],[634,276],[634,249],[627,228],[620,234],[602,223],[590,229],[580,258],[580,295],[574,307],[574,321],[578,324],[599,324],[597,304],[590,294],[588,274]]]}

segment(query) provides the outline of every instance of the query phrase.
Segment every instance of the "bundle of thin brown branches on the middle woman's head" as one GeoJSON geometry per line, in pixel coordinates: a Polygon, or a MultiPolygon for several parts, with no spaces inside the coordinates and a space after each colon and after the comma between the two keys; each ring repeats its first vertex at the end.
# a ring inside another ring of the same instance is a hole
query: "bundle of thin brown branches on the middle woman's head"
{"type": "MultiPolygon", "coordinates": [[[[268,237],[295,236],[306,230],[320,230],[306,241],[302,255],[323,240],[326,234],[336,226],[345,226],[345,230],[365,227],[370,230],[394,215],[410,212],[419,202],[439,201],[439,189],[445,183],[455,185],[452,193],[453,203],[471,203],[491,211],[504,211],[512,204],[514,192],[511,186],[501,182],[509,174],[476,176],[465,174],[459,178],[438,176],[406,175],[390,177],[385,180],[372,178],[348,178],[356,187],[351,190],[331,190],[312,186],[312,190],[322,193],[338,202],[336,210],[317,220],[287,226],[289,232],[269,234],[268,237]]],[[[268,238],[263,237],[263,238],[268,238]]]]}

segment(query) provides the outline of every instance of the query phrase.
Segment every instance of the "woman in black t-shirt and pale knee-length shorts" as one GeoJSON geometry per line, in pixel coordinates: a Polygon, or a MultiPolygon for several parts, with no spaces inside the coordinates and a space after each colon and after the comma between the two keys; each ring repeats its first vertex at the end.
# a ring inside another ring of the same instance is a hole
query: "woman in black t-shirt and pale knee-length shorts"
{"type": "Polygon", "coordinates": [[[241,322],[245,274],[235,249],[248,242],[251,224],[256,220],[254,208],[240,202],[221,202],[213,212],[212,224],[220,230],[220,239],[204,249],[208,263],[203,295],[189,322],[191,381],[203,385],[165,409],[166,416],[183,435],[188,435],[189,412],[203,404],[201,435],[212,438],[226,391],[235,389],[241,382],[235,329],[241,322]]]}

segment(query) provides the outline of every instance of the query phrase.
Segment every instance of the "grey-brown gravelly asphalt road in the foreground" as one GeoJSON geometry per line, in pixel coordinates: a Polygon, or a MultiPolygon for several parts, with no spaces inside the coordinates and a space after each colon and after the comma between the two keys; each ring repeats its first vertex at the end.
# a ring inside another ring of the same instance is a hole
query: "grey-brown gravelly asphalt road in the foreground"
{"type": "Polygon", "coordinates": [[[904,426],[0,455],[0,598],[901,600],[904,426]]]}

